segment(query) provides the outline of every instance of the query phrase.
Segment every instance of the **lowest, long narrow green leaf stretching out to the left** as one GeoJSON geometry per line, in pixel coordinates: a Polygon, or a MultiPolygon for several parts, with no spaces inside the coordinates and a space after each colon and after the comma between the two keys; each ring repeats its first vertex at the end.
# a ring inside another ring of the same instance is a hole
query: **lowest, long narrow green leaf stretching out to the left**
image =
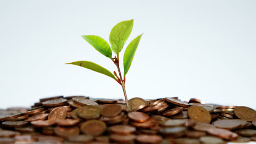
{"type": "Polygon", "coordinates": [[[98,65],[96,63],[93,62],[89,62],[89,61],[77,61],[77,62],[72,62],[72,63],[66,63],[66,64],[74,64],[74,65],[78,65],[80,67],[84,67],[86,69],[90,69],[90,70],[94,70],[98,73],[107,75],[109,77],[112,77],[113,79],[115,79],[115,76],[107,69],[101,67],[101,65],[98,65]]]}

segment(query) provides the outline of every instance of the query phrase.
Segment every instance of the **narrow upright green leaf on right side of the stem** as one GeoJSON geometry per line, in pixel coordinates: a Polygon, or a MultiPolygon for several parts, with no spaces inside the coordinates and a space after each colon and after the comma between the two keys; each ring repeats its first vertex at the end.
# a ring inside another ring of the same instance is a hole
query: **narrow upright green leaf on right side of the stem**
{"type": "Polygon", "coordinates": [[[137,50],[139,41],[141,40],[142,34],[137,38],[133,39],[131,43],[127,46],[124,53],[124,76],[127,74],[129,68],[131,67],[132,59],[137,50]]]}

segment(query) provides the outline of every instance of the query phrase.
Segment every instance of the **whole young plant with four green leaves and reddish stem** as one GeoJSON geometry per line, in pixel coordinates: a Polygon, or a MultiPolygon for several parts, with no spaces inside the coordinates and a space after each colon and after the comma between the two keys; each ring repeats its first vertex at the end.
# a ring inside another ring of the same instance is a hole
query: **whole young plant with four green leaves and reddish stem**
{"type": "Polygon", "coordinates": [[[117,72],[113,71],[113,73],[111,73],[106,68],[103,68],[100,65],[93,62],[77,61],[77,62],[67,63],[67,64],[78,65],[80,67],[84,67],[90,70],[94,70],[98,73],[101,73],[113,78],[123,88],[124,97],[125,97],[127,106],[128,106],[128,99],[127,99],[127,94],[125,90],[125,75],[127,74],[129,68],[131,67],[132,59],[135,55],[135,52],[137,50],[139,41],[141,40],[142,34],[138,35],[138,37],[133,39],[131,43],[126,47],[126,50],[124,53],[124,75],[121,74],[120,67],[119,67],[119,52],[123,49],[126,40],[130,36],[132,27],[133,27],[133,20],[121,21],[117,25],[115,25],[112,28],[109,35],[109,42],[111,44],[111,47],[109,46],[106,40],[102,39],[101,37],[98,37],[97,35],[82,35],[82,38],[84,38],[89,44],[91,44],[98,52],[100,52],[102,55],[106,56],[107,58],[111,59],[111,61],[117,66],[119,76],[117,72]],[[114,55],[114,57],[112,57],[112,51],[116,54],[114,55]]]}

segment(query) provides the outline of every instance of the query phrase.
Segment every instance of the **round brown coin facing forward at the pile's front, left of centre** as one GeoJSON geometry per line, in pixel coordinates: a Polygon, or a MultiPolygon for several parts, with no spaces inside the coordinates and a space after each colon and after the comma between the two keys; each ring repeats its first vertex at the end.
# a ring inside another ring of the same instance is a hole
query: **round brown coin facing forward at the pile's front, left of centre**
{"type": "Polygon", "coordinates": [[[86,135],[99,136],[104,133],[107,125],[98,120],[90,120],[82,123],[80,130],[86,135]]]}

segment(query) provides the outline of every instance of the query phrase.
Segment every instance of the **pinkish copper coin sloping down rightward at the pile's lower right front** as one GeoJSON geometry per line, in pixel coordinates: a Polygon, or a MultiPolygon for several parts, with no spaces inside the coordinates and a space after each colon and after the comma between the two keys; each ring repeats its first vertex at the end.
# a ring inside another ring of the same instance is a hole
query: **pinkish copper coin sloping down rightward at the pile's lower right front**
{"type": "Polygon", "coordinates": [[[236,133],[226,130],[226,129],[219,129],[219,128],[211,128],[207,130],[208,134],[218,136],[225,140],[235,140],[238,136],[236,133]]]}

